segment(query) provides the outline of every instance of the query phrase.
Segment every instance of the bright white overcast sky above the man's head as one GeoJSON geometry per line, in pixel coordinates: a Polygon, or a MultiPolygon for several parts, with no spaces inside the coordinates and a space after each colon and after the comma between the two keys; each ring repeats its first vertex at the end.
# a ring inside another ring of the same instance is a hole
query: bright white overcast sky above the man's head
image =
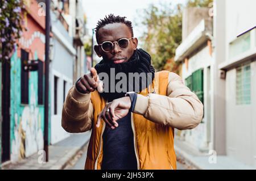
{"type": "MultiPolygon", "coordinates": [[[[114,15],[126,16],[127,20],[133,23],[134,36],[141,36],[142,31],[135,26],[135,19],[139,17],[137,10],[143,10],[151,3],[167,2],[172,4],[185,3],[187,0],[84,0],[83,6],[87,16],[86,27],[95,28],[99,19],[110,13],[114,15]]],[[[91,34],[91,33],[90,33],[91,34]]]]}

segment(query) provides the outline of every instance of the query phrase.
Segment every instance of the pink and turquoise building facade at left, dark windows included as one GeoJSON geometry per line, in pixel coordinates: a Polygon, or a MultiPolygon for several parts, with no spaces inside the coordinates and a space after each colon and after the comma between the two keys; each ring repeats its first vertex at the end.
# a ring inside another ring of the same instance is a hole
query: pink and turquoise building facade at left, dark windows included
{"type": "Polygon", "coordinates": [[[43,149],[45,22],[36,1],[26,3],[24,28],[10,62],[2,67],[2,162],[16,162],[43,149]],[[28,71],[28,61],[38,69],[28,71]]]}

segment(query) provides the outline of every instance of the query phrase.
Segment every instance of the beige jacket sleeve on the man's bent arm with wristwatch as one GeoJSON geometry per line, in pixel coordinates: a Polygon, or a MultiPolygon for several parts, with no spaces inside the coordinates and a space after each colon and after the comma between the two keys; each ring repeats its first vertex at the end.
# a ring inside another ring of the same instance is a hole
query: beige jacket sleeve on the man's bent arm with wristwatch
{"type": "Polygon", "coordinates": [[[181,77],[169,73],[167,95],[138,95],[134,112],[154,123],[168,125],[180,130],[193,129],[203,119],[203,104],[181,77]]]}

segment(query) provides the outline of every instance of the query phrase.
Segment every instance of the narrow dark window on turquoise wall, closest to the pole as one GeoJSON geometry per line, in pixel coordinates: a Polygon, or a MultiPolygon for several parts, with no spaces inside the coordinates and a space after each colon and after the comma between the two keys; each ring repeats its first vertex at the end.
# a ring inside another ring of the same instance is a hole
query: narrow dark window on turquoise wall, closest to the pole
{"type": "Polygon", "coordinates": [[[44,87],[44,82],[43,82],[43,76],[44,76],[44,63],[41,60],[38,60],[38,105],[43,105],[44,104],[44,95],[43,95],[43,87],[44,87]]]}

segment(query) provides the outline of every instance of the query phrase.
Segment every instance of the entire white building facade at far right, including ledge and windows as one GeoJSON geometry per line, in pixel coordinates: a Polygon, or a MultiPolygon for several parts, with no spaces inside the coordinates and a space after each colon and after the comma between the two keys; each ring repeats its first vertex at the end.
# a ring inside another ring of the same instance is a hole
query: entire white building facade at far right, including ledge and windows
{"type": "MultiPolygon", "coordinates": [[[[220,7],[221,6],[221,7],[220,7]]],[[[256,167],[256,12],[255,1],[216,1],[224,9],[225,46],[218,70],[225,96],[225,154],[256,167]],[[242,35],[241,35],[242,33],[242,35]]],[[[218,19],[217,19],[218,20],[218,19]]],[[[218,22],[216,22],[218,28],[218,22]]],[[[216,31],[219,31],[217,29],[216,31]]],[[[216,39],[221,37],[216,36],[216,39]]],[[[217,46],[217,45],[216,45],[217,46]]],[[[218,52],[216,52],[217,54],[218,52]]]]}

